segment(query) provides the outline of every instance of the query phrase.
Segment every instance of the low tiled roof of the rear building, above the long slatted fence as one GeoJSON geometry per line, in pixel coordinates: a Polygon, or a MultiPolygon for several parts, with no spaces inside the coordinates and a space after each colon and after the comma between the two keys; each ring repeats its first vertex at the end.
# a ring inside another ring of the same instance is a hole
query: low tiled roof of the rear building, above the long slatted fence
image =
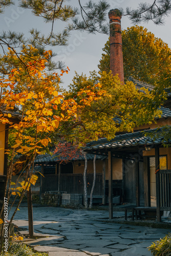
{"type": "MultiPolygon", "coordinates": [[[[103,157],[101,156],[96,156],[96,160],[100,160],[103,157]]],[[[50,155],[50,154],[46,154],[46,155],[38,155],[34,161],[35,164],[40,164],[40,163],[52,163],[52,162],[59,162],[61,160],[65,160],[66,158],[63,157],[61,158],[61,156],[56,156],[56,155],[50,155]]],[[[94,155],[92,154],[87,154],[87,160],[93,160],[94,159],[94,155]]],[[[70,161],[84,161],[84,157],[82,154],[80,154],[79,157],[77,158],[71,158],[70,161]]]]}

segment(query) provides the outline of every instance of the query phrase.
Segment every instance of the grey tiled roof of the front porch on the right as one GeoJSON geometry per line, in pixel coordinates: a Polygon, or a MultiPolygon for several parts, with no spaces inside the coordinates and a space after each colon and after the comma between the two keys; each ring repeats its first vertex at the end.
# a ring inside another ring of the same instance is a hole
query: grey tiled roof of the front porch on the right
{"type": "MultiPolygon", "coordinates": [[[[144,130],[141,132],[117,135],[111,141],[108,141],[106,138],[99,139],[97,141],[88,143],[87,146],[83,148],[83,150],[89,152],[91,150],[104,150],[109,148],[124,148],[130,146],[161,144],[163,140],[163,138],[161,137],[158,139],[153,139],[151,137],[144,136],[144,132],[152,133],[158,131],[161,131],[161,129],[151,129],[146,131],[144,130]]],[[[166,141],[164,142],[167,143],[166,141]]],[[[171,141],[169,143],[171,143],[171,141]]]]}

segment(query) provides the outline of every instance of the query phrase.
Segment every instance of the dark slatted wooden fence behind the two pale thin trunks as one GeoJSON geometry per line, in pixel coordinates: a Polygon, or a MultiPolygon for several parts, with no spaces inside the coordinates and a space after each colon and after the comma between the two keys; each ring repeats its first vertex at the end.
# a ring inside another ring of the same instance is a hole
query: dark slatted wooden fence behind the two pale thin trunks
{"type": "MultiPolygon", "coordinates": [[[[88,195],[91,193],[93,185],[93,174],[87,175],[88,195]]],[[[58,190],[58,175],[45,175],[41,178],[41,193],[45,191],[58,190]]],[[[60,191],[66,191],[68,194],[83,194],[83,175],[82,174],[61,174],[60,191]]],[[[102,196],[102,174],[96,174],[96,183],[94,196],[102,196]]]]}

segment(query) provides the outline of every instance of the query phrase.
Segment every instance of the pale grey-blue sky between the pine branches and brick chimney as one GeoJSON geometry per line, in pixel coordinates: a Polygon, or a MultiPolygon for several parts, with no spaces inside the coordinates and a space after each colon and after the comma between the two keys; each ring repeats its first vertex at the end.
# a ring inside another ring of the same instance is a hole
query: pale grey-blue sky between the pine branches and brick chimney
{"type": "MultiPolygon", "coordinates": [[[[106,0],[107,1],[107,0],[106,0]]],[[[82,5],[87,1],[81,0],[82,5]]],[[[94,0],[94,2],[99,2],[94,0]]],[[[110,9],[123,8],[127,6],[136,8],[139,3],[146,2],[143,0],[108,0],[110,4],[110,9]]],[[[148,0],[148,3],[153,3],[154,0],[148,0]]],[[[22,32],[29,36],[29,30],[32,28],[37,28],[43,33],[48,33],[51,26],[46,24],[44,20],[40,17],[35,17],[30,10],[24,10],[19,8],[17,5],[10,6],[5,10],[4,14],[0,15],[1,31],[16,31],[22,32]]],[[[78,6],[78,0],[71,0],[69,2],[74,6],[78,6]]],[[[107,20],[108,15],[107,15],[107,20]]],[[[141,23],[140,25],[147,28],[149,32],[155,34],[156,37],[161,38],[164,42],[168,44],[171,48],[171,33],[170,33],[171,15],[165,19],[165,24],[157,26],[152,21],[149,23],[141,23]]],[[[139,25],[139,26],[140,26],[139,25]]],[[[123,16],[121,19],[122,29],[131,27],[133,24],[128,17],[123,16]]],[[[61,22],[56,22],[54,24],[55,31],[61,31],[63,24],[61,22]]],[[[89,72],[96,70],[98,71],[98,63],[101,58],[102,48],[105,42],[108,40],[108,35],[105,34],[88,34],[87,32],[73,31],[69,38],[68,46],[58,46],[53,48],[53,51],[57,54],[55,60],[65,61],[66,66],[69,67],[69,74],[64,74],[62,77],[64,88],[67,88],[74,77],[75,71],[81,75],[87,74],[89,72]]]]}

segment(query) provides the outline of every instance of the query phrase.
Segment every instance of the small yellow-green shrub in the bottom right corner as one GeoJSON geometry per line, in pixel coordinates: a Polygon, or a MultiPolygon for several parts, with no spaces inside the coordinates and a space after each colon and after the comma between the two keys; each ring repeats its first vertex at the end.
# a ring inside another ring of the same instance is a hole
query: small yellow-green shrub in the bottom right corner
{"type": "Polygon", "coordinates": [[[153,256],[171,256],[171,234],[166,235],[160,241],[155,241],[148,247],[153,256]]]}

